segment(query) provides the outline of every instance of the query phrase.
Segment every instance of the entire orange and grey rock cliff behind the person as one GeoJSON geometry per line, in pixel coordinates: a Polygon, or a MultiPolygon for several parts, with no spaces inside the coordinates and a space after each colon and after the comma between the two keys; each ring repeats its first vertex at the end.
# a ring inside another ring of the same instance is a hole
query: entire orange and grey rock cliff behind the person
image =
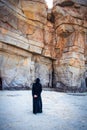
{"type": "Polygon", "coordinates": [[[3,89],[80,88],[87,64],[86,1],[0,1],[0,76],[3,89]],[[65,86],[65,88],[64,88],[65,86]]]}

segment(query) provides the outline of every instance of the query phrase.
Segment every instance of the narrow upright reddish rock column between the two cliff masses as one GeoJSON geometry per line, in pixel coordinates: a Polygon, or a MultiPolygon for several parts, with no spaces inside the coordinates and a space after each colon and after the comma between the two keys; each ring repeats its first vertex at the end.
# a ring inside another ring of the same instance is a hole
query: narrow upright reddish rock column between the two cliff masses
{"type": "Polygon", "coordinates": [[[55,30],[53,28],[53,24],[48,21],[46,26],[44,27],[44,49],[43,55],[55,58],[55,30]]]}

